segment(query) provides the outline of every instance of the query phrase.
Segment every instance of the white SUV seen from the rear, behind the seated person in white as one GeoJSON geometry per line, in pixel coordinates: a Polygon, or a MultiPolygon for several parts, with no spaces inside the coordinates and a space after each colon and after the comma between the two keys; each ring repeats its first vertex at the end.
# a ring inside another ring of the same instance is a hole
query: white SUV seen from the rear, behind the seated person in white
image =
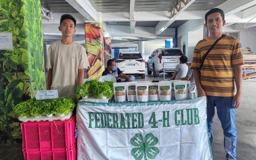
{"type": "Polygon", "coordinates": [[[173,73],[176,65],[180,63],[180,57],[183,52],[180,48],[159,48],[154,50],[147,61],[147,74],[152,74],[154,78],[159,77],[159,73],[163,73],[163,64],[165,65],[165,73],[173,73]]]}

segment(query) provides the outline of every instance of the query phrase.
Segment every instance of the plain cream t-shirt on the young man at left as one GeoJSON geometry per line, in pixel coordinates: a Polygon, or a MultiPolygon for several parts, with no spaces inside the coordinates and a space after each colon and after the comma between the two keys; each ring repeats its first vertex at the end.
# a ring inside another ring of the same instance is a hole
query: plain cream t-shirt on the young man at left
{"type": "Polygon", "coordinates": [[[51,89],[57,89],[59,97],[75,98],[78,85],[78,69],[89,68],[85,48],[77,42],[54,42],[48,49],[47,68],[52,68],[51,89]]]}

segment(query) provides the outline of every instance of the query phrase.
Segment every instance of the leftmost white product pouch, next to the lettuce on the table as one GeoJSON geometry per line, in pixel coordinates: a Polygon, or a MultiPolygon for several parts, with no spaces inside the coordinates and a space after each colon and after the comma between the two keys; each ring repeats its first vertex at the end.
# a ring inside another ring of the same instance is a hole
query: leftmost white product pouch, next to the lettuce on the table
{"type": "Polygon", "coordinates": [[[125,102],[126,83],[114,82],[113,86],[114,86],[115,102],[125,102]]]}

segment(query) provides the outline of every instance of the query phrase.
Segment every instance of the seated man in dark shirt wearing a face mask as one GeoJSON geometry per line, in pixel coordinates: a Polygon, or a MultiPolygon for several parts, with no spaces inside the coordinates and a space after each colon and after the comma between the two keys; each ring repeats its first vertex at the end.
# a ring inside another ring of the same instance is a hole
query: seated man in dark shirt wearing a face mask
{"type": "Polygon", "coordinates": [[[102,76],[105,76],[105,75],[115,76],[115,78],[117,79],[117,82],[122,82],[121,78],[125,79],[125,81],[123,82],[135,81],[134,76],[131,76],[129,78],[125,73],[120,71],[119,68],[117,68],[117,66],[115,65],[115,61],[112,59],[107,61],[107,68],[105,68],[105,71],[103,71],[102,73],[102,76]]]}

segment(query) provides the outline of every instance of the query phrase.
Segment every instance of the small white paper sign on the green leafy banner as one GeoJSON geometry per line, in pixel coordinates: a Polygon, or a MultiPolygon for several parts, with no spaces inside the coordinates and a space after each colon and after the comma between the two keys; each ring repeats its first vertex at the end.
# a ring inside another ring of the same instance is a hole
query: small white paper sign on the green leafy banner
{"type": "Polygon", "coordinates": [[[0,50],[14,49],[12,33],[0,33],[0,50]]]}

